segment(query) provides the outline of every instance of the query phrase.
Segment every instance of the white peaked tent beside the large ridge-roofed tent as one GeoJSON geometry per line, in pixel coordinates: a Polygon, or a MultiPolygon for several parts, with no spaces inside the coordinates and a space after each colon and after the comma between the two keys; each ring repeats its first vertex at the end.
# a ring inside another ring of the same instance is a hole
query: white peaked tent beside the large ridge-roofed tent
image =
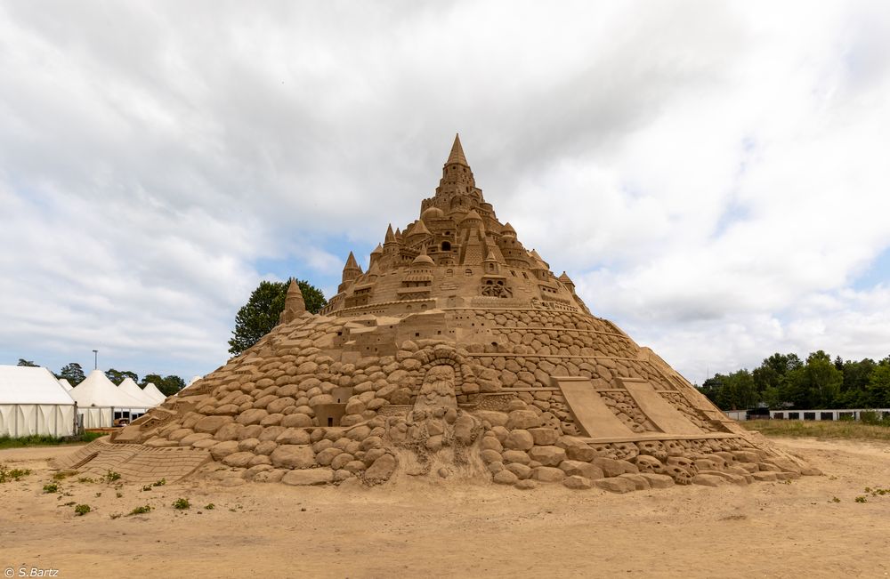
{"type": "Polygon", "coordinates": [[[82,417],[84,428],[109,428],[116,418],[133,418],[134,414],[145,414],[150,407],[144,400],[119,390],[101,370],[93,370],[70,394],[77,401],[77,414],[82,417]]]}

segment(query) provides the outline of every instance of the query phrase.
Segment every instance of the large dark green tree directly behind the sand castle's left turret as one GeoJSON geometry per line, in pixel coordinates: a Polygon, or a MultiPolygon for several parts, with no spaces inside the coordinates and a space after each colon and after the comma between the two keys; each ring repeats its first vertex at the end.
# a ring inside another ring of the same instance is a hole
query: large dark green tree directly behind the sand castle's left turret
{"type": "MultiPolygon", "coordinates": [[[[327,303],[321,290],[300,279],[297,279],[296,283],[303,293],[306,310],[313,314],[319,313],[327,303]]],[[[235,316],[235,329],[231,333],[231,340],[229,340],[230,354],[238,356],[259,342],[260,338],[269,334],[271,329],[278,325],[281,312],[284,311],[288,285],[290,285],[290,280],[260,282],[253,294],[250,294],[250,299],[235,316]]]]}

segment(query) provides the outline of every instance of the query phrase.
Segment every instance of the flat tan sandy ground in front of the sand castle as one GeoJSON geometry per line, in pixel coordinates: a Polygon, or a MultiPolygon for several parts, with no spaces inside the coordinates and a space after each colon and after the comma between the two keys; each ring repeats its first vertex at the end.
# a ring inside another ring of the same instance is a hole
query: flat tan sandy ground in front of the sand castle
{"type": "Polygon", "coordinates": [[[6,450],[0,463],[33,472],[0,484],[0,569],[53,568],[60,577],[886,576],[890,495],[864,488],[890,487],[890,445],[777,441],[825,476],[627,495],[426,481],[350,491],[185,481],[116,491],[75,477],[56,495],[42,490],[52,476],[46,460],[70,446],[6,450]],[[859,495],[867,502],[856,503],[859,495]],[[190,510],[173,509],[179,497],[190,510]],[[93,511],[76,517],[63,505],[70,501],[93,511]],[[111,519],[142,504],[154,510],[111,519]]]}

